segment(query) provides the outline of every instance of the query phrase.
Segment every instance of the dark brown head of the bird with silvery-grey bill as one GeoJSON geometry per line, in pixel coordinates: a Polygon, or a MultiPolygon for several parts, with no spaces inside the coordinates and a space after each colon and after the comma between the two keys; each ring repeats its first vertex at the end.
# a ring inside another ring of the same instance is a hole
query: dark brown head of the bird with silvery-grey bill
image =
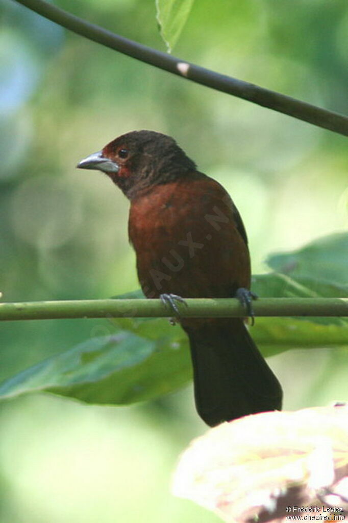
{"type": "Polygon", "coordinates": [[[102,151],[81,160],[77,167],[106,173],[129,199],[143,189],[185,177],[196,169],[173,138],[154,131],[123,134],[102,151]]]}

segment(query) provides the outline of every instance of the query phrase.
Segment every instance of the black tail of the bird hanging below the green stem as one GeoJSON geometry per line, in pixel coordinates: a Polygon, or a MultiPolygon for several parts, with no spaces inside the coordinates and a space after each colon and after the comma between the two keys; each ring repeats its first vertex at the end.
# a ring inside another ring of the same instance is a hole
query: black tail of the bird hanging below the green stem
{"type": "Polygon", "coordinates": [[[187,323],[197,412],[208,425],[281,409],[280,383],[243,320],[187,323]]]}

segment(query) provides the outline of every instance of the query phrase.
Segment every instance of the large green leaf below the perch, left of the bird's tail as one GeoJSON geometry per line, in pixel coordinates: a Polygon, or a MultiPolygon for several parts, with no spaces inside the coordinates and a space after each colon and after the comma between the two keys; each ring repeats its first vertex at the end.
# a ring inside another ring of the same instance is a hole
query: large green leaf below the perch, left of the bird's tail
{"type": "Polygon", "coordinates": [[[0,398],[45,391],[87,403],[128,404],[176,390],[191,378],[187,344],[130,332],[93,338],[20,372],[0,398]]]}

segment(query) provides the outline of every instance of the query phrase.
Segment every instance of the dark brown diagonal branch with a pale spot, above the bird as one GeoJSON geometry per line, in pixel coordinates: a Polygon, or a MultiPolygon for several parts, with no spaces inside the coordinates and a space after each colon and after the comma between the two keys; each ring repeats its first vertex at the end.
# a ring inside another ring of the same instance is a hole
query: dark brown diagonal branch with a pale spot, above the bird
{"type": "Polygon", "coordinates": [[[238,98],[251,101],[263,107],[268,107],[274,111],[282,112],[298,120],[312,123],[317,127],[348,136],[348,117],[339,113],[328,111],[301,100],[276,93],[269,89],[259,87],[231,76],[226,76],[204,67],[188,63],[161,51],[157,51],[147,46],[128,40],[127,38],[115,35],[102,27],[89,24],[77,16],[70,15],[63,9],[59,9],[43,0],[16,0],[39,15],[52,20],[56,24],[69,29],[98,42],[103,46],[109,47],[132,58],[148,63],[159,69],[184,77],[192,82],[196,82],[223,93],[227,93],[238,98]]]}

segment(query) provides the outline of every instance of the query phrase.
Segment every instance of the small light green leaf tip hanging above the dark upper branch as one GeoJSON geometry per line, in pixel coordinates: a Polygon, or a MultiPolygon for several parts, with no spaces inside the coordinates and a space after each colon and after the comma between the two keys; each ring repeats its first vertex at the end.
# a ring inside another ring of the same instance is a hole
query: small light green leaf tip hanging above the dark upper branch
{"type": "Polygon", "coordinates": [[[183,30],[193,3],[194,0],[156,0],[157,21],[169,53],[183,30]]]}

